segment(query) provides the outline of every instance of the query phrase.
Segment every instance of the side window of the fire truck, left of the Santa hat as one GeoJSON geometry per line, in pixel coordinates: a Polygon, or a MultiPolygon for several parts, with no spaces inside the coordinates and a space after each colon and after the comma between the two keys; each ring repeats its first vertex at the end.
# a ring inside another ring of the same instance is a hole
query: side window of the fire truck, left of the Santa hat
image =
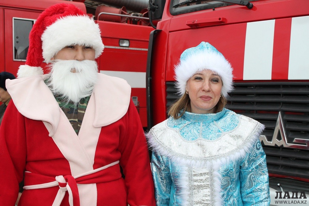
{"type": "Polygon", "coordinates": [[[13,18],[13,60],[26,61],[29,33],[35,19],[13,18]]]}

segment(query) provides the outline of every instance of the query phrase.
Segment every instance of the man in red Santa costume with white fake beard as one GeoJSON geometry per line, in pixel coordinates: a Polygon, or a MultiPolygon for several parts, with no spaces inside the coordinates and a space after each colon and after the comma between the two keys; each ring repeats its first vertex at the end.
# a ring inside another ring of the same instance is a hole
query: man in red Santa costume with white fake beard
{"type": "Polygon", "coordinates": [[[0,128],[0,205],[15,204],[23,177],[19,205],[155,205],[131,88],[98,73],[99,26],[56,4],[38,17],[29,43],[18,79],[6,81],[13,101],[0,128]]]}

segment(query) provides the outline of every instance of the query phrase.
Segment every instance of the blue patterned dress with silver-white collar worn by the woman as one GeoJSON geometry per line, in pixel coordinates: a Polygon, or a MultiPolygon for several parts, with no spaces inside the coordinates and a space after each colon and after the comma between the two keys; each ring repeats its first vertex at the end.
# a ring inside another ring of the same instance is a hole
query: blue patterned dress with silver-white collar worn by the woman
{"type": "Polygon", "coordinates": [[[185,112],[147,134],[157,205],[269,205],[264,125],[228,109],[185,112]]]}

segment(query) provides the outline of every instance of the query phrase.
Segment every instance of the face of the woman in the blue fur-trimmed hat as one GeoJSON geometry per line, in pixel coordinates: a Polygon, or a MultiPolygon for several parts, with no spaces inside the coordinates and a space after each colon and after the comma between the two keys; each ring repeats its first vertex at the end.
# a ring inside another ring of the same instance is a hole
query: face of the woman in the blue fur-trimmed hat
{"type": "Polygon", "coordinates": [[[187,81],[191,112],[196,114],[214,113],[222,89],[222,79],[213,71],[205,69],[195,73],[187,81]]]}

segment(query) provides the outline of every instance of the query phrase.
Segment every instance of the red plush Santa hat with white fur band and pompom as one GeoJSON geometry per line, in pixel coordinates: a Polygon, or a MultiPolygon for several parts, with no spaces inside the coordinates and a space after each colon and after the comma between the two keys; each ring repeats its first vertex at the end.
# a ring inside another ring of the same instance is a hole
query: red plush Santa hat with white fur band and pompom
{"type": "Polygon", "coordinates": [[[95,58],[103,52],[99,25],[73,4],[60,3],[43,11],[29,34],[26,64],[19,66],[18,78],[43,74],[40,67],[69,45],[95,49],[95,58]]]}

